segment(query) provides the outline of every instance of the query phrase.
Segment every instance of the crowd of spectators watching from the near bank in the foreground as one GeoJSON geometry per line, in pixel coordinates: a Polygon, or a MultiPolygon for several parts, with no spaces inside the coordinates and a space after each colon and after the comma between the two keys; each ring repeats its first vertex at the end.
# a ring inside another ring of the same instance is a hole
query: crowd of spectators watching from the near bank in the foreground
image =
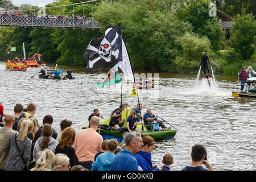
{"type": "MultiPolygon", "coordinates": [[[[34,103],[26,109],[16,104],[14,114],[6,115],[0,106],[0,171],[170,171],[174,163],[174,156],[165,154],[163,166],[154,166],[155,140],[140,131],[126,132],[122,146],[117,139],[104,140],[97,131],[100,119],[96,115],[90,118],[90,127],[77,134],[72,122],[64,119],[57,133],[51,115],[46,115],[40,126],[34,103]]],[[[204,146],[193,146],[191,157],[191,166],[182,171],[213,170],[204,146]]]]}

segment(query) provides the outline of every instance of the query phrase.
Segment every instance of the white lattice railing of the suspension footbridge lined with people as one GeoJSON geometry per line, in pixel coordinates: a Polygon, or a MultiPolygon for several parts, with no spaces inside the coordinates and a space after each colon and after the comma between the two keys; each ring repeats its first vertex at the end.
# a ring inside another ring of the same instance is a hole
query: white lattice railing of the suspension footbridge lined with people
{"type": "Polygon", "coordinates": [[[100,29],[100,23],[93,19],[34,16],[2,16],[0,26],[100,29]]]}

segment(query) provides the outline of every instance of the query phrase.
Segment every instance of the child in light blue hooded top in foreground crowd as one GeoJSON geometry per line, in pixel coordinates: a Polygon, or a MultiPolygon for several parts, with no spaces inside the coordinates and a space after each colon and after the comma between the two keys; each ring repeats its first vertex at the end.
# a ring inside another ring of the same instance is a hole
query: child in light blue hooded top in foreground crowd
{"type": "Polygon", "coordinates": [[[117,150],[117,139],[110,139],[107,145],[108,150],[97,157],[96,162],[93,162],[91,171],[110,171],[114,152],[117,150]]]}

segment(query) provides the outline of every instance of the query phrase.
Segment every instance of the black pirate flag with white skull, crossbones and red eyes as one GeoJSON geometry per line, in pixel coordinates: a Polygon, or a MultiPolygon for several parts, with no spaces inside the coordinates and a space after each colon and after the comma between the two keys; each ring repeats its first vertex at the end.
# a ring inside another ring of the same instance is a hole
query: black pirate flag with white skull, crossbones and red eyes
{"type": "Polygon", "coordinates": [[[122,61],[121,23],[106,32],[103,38],[93,38],[84,51],[87,73],[112,68],[122,61]]]}

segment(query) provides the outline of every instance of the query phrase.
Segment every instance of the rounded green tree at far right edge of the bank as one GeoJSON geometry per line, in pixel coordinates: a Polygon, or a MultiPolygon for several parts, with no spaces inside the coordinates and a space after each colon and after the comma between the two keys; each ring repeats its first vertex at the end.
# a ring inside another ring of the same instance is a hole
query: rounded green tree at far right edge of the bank
{"type": "Polygon", "coordinates": [[[255,52],[255,30],[253,14],[246,14],[243,7],[242,15],[237,15],[230,30],[230,47],[240,54],[241,59],[250,59],[255,52]]]}

